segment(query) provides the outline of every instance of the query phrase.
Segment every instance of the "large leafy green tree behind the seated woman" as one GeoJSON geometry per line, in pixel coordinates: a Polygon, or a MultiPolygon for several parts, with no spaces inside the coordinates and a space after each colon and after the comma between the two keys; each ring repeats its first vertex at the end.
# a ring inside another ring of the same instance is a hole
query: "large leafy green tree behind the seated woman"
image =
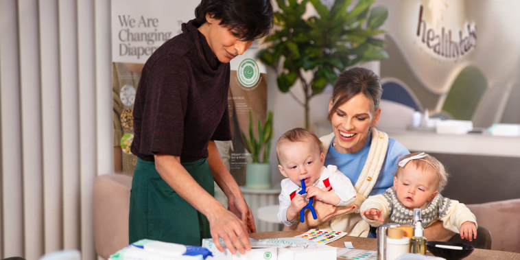
{"type": "MultiPolygon", "coordinates": [[[[283,93],[299,82],[305,97],[298,104],[305,109],[305,127],[309,128],[309,100],[334,84],[338,73],[358,62],[383,60],[385,41],[376,38],[388,17],[385,7],[370,9],[375,0],[358,0],[349,9],[350,0],[334,0],[328,8],[320,0],[276,0],[274,32],[265,40],[266,49],[259,59],[276,71],[283,93]],[[311,3],[308,5],[307,3],[311,3]],[[317,15],[307,19],[307,7],[317,15]],[[309,76],[311,75],[311,76],[309,76]]],[[[289,92],[290,93],[290,92],[289,92]]]]}

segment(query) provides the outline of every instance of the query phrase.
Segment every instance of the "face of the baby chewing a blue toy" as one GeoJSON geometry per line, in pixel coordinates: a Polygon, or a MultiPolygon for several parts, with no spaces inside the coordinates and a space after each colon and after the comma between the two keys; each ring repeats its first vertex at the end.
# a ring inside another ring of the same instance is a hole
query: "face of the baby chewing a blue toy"
{"type": "Polygon", "coordinates": [[[281,174],[298,186],[301,186],[300,180],[306,179],[305,187],[311,187],[320,178],[325,160],[319,147],[316,149],[316,144],[308,140],[284,141],[279,146],[281,174]]]}

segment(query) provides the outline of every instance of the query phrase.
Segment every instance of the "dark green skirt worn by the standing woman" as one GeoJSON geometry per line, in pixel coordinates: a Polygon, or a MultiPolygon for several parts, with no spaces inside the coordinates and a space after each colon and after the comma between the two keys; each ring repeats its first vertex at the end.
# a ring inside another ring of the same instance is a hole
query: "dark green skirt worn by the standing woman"
{"type": "MultiPolygon", "coordinates": [[[[215,196],[213,175],[205,158],[182,166],[215,196]]],[[[154,162],[141,159],[134,169],[130,190],[129,235],[130,244],[154,239],[189,246],[200,246],[203,238],[211,237],[206,217],[169,187],[154,162]]]]}

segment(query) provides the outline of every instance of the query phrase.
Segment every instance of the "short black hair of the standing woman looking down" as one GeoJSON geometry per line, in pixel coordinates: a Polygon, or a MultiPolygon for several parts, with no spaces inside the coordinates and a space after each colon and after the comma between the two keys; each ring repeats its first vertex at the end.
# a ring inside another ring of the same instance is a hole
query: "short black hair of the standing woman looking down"
{"type": "Polygon", "coordinates": [[[195,9],[197,23],[206,23],[206,14],[222,20],[220,25],[237,29],[241,40],[255,40],[272,28],[270,0],[202,0],[195,9]]]}

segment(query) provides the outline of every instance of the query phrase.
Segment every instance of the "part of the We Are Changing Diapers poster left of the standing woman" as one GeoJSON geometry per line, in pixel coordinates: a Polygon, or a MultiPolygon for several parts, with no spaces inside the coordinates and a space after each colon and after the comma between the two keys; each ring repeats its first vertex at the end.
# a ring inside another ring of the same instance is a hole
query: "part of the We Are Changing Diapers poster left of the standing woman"
{"type": "Polygon", "coordinates": [[[132,175],[137,156],[133,106],[141,70],[165,41],[180,34],[180,25],[194,18],[196,1],[112,0],[112,96],[115,172],[132,175]]]}

